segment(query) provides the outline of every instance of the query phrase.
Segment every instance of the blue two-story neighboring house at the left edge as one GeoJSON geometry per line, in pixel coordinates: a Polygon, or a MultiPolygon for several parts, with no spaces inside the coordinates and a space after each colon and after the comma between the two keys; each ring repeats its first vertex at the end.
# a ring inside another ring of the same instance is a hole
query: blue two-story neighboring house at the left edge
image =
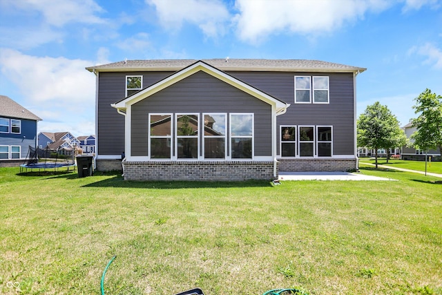
{"type": "Polygon", "coordinates": [[[37,144],[41,118],[5,95],[0,95],[0,166],[19,166],[37,144]]]}

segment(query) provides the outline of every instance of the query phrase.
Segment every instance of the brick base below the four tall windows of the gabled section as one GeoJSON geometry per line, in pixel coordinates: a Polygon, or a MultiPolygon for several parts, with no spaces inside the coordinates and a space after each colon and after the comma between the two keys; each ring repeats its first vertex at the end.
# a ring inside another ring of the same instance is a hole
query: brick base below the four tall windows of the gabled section
{"type": "Polygon", "coordinates": [[[273,161],[123,162],[124,180],[242,181],[273,179],[273,161]]]}

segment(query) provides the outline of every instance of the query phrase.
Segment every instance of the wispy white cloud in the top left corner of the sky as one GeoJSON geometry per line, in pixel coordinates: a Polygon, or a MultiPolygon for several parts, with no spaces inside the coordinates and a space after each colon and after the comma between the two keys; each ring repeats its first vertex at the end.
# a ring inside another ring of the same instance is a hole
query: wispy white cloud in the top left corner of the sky
{"type": "Polygon", "coordinates": [[[96,14],[104,12],[93,0],[3,0],[3,6],[15,6],[21,10],[37,11],[52,26],[66,23],[104,23],[96,14]]]}

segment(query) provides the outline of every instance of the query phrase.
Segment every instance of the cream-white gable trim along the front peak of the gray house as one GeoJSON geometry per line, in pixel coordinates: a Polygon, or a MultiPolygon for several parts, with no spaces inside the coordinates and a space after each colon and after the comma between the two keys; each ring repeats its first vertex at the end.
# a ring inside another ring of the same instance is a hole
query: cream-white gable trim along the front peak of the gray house
{"type": "Polygon", "coordinates": [[[290,104],[282,102],[276,99],[275,97],[272,97],[271,95],[268,95],[267,93],[264,93],[258,90],[257,88],[254,88],[253,86],[250,86],[249,84],[246,84],[236,79],[235,77],[232,77],[231,75],[228,75],[227,73],[224,73],[221,70],[218,70],[217,68],[214,68],[213,66],[204,63],[203,61],[197,61],[195,62],[195,64],[192,64],[191,66],[188,66],[187,68],[184,68],[179,72],[174,73],[169,77],[166,77],[166,79],[162,79],[160,82],[157,82],[149,86],[148,88],[145,88],[144,90],[135,93],[134,95],[131,95],[126,99],[123,99],[120,102],[111,104],[111,106],[117,108],[118,111],[125,111],[128,106],[140,102],[141,100],[159,91],[162,91],[164,88],[167,88],[177,82],[180,82],[182,79],[189,77],[199,71],[203,71],[204,73],[207,73],[215,78],[218,78],[223,82],[226,82],[227,84],[230,84],[231,86],[234,86],[240,89],[241,91],[244,91],[245,93],[249,93],[249,95],[258,98],[263,102],[267,102],[267,104],[275,105],[276,112],[278,113],[278,115],[280,113],[284,113],[283,111],[290,106],[290,104]]]}

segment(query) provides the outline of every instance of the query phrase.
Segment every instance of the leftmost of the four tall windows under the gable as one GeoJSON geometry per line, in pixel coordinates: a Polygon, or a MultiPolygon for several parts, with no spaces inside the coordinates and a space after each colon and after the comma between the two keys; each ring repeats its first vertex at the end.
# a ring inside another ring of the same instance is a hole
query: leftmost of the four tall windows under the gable
{"type": "Polygon", "coordinates": [[[149,114],[149,156],[152,159],[170,159],[172,155],[172,115],[149,114]]]}

